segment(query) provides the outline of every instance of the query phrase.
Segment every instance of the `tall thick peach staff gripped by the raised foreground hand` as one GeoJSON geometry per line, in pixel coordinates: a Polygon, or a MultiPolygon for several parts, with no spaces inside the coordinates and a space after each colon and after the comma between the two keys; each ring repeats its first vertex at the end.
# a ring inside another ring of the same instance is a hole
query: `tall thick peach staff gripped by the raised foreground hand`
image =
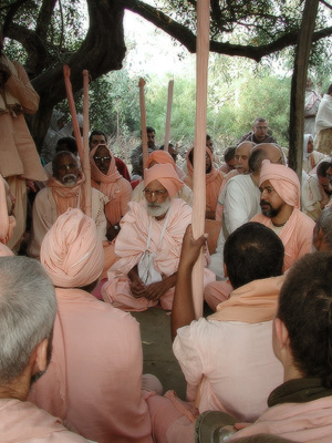
{"type": "MultiPolygon", "coordinates": [[[[204,234],[206,210],[206,114],[207,76],[209,61],[209,0],[197,1],[197,55],[196,55],[196,121],[194,145],[194,210],[193,234],[198,238],[204,234]]],[[[193,298],[195,316],[203,316],[203,251],[193,271],[193,298]]]]}

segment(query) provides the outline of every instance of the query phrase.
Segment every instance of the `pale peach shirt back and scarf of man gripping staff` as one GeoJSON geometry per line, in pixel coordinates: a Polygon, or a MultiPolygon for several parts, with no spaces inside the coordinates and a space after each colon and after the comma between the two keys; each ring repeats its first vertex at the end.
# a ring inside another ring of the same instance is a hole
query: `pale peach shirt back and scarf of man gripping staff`
{"type": "MultiPolygon", "coordinates": [[[[253,298],[252,303],[257,303],[259,311],[264,303],[262,288],[267,292],[271,288],[277,307],[274,279],[266,279],[234,291],[230,298],[234,306],[228,309],[236,312],[239,308],[234,300],[237,293],[245,293],[253,298]]],[[[246,318],[246,303],[240,309],[239,321],[218,320],[217,313],[178,329],[174,353],[190,385],[197,387],[201,380],[200,413],[219,410],[238,420],[252,421],[266,410],[270,390],[282,382],[282,365],[271,347],[272,321],[264,321],[264,316],[258,316],[255,321],[249,319],[250,315],[246,318]]],[[[236,313],[232,316],[236,318],[236,313]]]]}

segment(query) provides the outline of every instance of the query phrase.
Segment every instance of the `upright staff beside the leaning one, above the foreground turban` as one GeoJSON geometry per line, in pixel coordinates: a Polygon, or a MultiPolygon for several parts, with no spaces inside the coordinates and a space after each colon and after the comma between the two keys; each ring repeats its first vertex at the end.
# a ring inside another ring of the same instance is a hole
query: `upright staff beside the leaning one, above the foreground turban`
{"type": "Polygon", "coordinates": [[[89,71],[83,71],[83,172],[85,175],[84,197],[85,214],[92,216],[92,193],[91,193],[91,165],[89,150],[89,71]]]}

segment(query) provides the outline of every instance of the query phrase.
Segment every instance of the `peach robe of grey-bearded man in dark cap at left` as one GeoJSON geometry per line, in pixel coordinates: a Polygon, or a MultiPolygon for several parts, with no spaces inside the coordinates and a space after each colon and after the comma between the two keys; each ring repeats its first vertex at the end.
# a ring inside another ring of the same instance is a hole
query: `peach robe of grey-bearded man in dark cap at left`
{"type": "MultiPolygon", "coordinates": [[[[34,199],[32,208],[32,230],[30,244],[28,246],[28,255],[30,257],[39,257],[42,240],[54,224],[59,215],[66,212],[69,207],[81,207],[81,186],[74,186],[71,192],[53,177],[52,186],[48,186],[40,190],[34,199]]],[[[106,240],[106,217],[104,214],[104,205],[107,197],[100,190],[92,188],[92,218],[96,224],[98,237],[106,240]]]]}

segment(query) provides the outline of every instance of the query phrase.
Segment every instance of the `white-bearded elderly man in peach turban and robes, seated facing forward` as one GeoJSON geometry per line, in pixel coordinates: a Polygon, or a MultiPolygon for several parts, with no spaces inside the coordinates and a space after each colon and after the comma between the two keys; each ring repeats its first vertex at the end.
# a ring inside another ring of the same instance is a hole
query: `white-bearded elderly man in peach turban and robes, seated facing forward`
{"type": "MultiPolygon", "coordinates": [[[[175,198],[184,186],[170,164],[144,172],[145,200],[131,202],[115,241],[117,261],[102,288],[104,301],[126,311],[144,311],[160,302],[172,309],[183,237],[191,207],[175,198]]],[[[205,282],[215,275],[205,270],[205,282]]]]}

